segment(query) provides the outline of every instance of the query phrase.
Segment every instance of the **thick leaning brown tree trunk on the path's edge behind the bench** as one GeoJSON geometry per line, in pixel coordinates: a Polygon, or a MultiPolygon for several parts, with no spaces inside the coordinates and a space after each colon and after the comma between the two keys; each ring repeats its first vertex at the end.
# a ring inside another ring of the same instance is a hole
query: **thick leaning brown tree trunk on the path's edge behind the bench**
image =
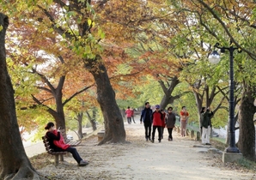
{"type": "Polygon", "coordinates": [[[101,63],[101,57],[97,56],[94,61],[87,61],[85,67],[94,76],[94,81],[97,85],[97,101],[101,106],[104,117],[105,135],[99,145],[106,142],[125,142],[123,117],[116,103],[115,93],[109,81],[107,69],[101,63]]]}

